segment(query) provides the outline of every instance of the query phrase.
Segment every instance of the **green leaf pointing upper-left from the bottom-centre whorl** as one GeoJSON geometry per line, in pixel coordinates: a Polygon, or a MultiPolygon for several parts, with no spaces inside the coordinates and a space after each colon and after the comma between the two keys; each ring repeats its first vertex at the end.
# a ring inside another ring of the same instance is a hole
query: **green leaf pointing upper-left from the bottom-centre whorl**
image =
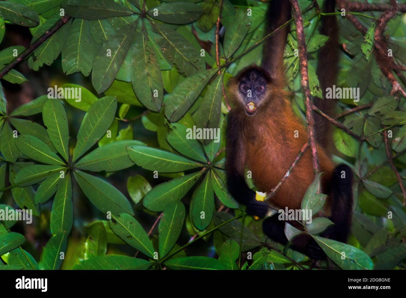
{"type": "Polygon", "coordinates": [[[121,213],[119,216],[112,215],[110,227],[114,233],[120,236],[125,242],[148,257],[154,256],[154,248],[147,232],[130,214],[121,213]]]}

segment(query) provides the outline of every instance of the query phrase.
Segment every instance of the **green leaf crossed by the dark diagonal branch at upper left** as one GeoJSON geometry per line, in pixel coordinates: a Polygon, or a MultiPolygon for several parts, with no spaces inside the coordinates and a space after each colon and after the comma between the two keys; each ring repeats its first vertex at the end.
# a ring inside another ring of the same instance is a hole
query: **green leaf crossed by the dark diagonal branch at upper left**
{"type": "MultiPolygon", "coordinates": [[[[47,32],[56,21],[60,19],[59,13],[45,21],[41,27],[35,32],[32,37],[32,42],[37,40],[42,34],[47,32]]],[[[28,66],[30,69],[38,71],[39,68],[45,63],[46,65],[51,65],[56,58],[58,58],[60,51],[62,51],[63,45],[69,35],[69,28],[71,26],[71,20],[67,24],[62,26],[55,34],[52,34],[46,41],[41,43],[37,49],[34,50],[34,55],[30,56],[28,59],[28,66]]]]}

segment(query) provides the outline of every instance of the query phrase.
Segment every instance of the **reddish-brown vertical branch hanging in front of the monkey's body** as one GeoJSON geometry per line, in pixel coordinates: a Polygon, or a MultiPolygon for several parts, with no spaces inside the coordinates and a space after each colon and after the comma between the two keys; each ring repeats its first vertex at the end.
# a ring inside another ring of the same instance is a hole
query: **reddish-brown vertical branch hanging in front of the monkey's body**
{"type": "Polygon", "coordinates": [[[319,159],[317,156],[317,147],[315,141],[314,118],[313,118],[313,103],[311,102],[311,94],[309,89],[309,74],[307,72],[307,49],[306,39],[304,37],[303,19],[300,13],[298,0],[289,0],[292,5],[292,13],[296,22],[296,35],[299,49],[300,62],[300,84],[302,85],[303,94],[306,96],[306,122],[307,134],[309,135],[309,143],[311,147],[311,155],[313,161],[313,170],[315,174],[320,172],[319,159]]]}

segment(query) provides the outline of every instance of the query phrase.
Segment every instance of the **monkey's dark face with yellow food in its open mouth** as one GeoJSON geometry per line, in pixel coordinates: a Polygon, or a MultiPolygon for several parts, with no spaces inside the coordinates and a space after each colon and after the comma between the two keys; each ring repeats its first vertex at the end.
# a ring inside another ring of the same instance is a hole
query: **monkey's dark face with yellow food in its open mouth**
{"type": "Polygon", "coordinates": [[[270,81],[268,74],[259,67],[250,67],[238,75],[238,81],[237,97],[244,105],[245,113],[248,116],[254,116],[266,99],[270,81]]]}

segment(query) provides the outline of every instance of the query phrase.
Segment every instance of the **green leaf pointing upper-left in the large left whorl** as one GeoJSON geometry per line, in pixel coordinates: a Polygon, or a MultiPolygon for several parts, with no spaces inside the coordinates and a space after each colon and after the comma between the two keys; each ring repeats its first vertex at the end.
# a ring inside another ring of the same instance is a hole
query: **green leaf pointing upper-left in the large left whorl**
{"type": "Polygon", "coordinates": [[[17,148],[28,158],[49,165],[65,165],[50,148],[36,137],[19,135],[15,140],[17,148]]]}

